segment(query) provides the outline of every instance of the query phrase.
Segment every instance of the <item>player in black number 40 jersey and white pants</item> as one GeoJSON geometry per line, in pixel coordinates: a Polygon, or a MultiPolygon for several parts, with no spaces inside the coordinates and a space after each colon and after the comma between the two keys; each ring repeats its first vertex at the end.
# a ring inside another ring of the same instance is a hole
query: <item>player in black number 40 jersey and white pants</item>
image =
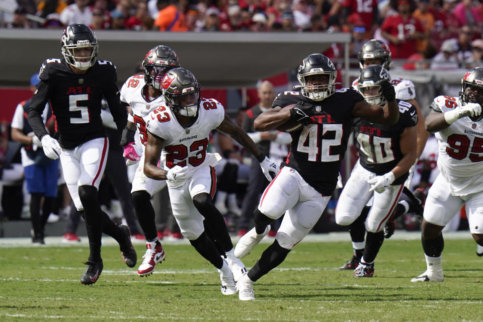
{"type": "MultiPolygon", "coordinates": [[[[383,105],[385,100],[378,90],[387,80],[389,75],[384,67],[369,65],[361,70],[357,88],[367,102],[383,105]]],[[[406,101],[397,101],[399,120],[394,125],[374,124],[361,118],[354,121],[359,160],[339,196],[336,222],[343,226],[352,224],[362,216],[362,209],[373,198],[367,218],[361,219],[367,235],[365,245],[364,242],[360,245],[363,254],[354,271],[355,277],[374,274],[374,260],[384,240],[384,225],[416,160],[416,108],[406,101]]],[[[353,247],[361,248],[357,243],[353,243],[353,247]]]]}

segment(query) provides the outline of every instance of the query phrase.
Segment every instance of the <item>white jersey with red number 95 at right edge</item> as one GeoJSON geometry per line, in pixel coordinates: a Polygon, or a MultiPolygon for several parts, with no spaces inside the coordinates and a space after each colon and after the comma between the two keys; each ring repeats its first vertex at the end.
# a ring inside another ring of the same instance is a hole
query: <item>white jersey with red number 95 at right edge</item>
{"type": "MultiPolygon", "coordinates": [[[[438,96],[430,106],[436,112],[461,107],[456,97],[438,96]]],[[[438,168],[451,194],[464,196],[483,190],[483,120],[462,117],[435,133],[438,139],[438,168]]]]}

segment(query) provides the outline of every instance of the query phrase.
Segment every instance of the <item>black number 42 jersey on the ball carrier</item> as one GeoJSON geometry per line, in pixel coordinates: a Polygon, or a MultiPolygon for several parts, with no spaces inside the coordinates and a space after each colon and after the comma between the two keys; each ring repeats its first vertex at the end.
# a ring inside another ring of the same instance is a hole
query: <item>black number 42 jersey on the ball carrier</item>
{"type": "Polygon", "coordinates": [[[341,160],[351,133],[352,110],[364,98],[353,89],[337,90],[323,101],[312,101],[300,93],[280,93],[272,106],[285,107],[297,102],[314,105],[316,114],[310,124],[290,133],[292,143],[287,166],[297,170],[312,188],[325,196],[336,188],[341,160]]]}

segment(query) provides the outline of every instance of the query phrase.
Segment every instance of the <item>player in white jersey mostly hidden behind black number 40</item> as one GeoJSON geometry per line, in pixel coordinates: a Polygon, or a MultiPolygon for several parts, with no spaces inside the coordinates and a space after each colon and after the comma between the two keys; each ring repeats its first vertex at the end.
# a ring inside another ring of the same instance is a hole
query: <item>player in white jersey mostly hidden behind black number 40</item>
{"type": "MultiPolygon", "coordinates": [[[[381,65],[386,70],[389,70],[390,63],[391,63],[391,51],[384,42],[377,39],[371,39],[367,41],[364,44],[364,46],[362,46],[358,54],[358,59],[359,59],[359,66],[361,70],[372,64],[381,65]]],[[[356,78],[352,83],[352,88],[356,91],[357,91],[358,83],[359,83],[359,78],[356,78]]],[[[396,91],[397,100],[407,101],[408,103],[411,103],[416,107],[416,112],[418,115],[417,116],[418,123],[416,124],[416,131],[418,135],[417,151],[416,151],[417,153],[416,162],[417,162],[418,157],[421,155],[421,153],[424,150],[424,146],[426,144],[426,140],[429,137],[429,133],[424,128],[424,116],[421,113],[421,109],[419,107],[418,102],[416,101],[415,87],[413,82],[411,82],[409,79],[401,79],[401,78],[395,78],[395,77],[391,77],[391,84],[394,86],[394,90],[396,91]]],[[[410,187],[411,180],[413,177],[413,172],[414,172],[414,167],[411,168],[408,180],[405,183],[405,186],[407,188],[410,187]]],[[[415,193],[417,194],[419,199],[422,199],[423,197],[425,197],[424,194],[422,194],[422,196],[419,196],[419,194],[421,194],[421,191],[419,192],[415,191],[415,193]]],[[[412,202],[412,200],[419,200],[419,199],[415,199],[415,198],[411,198],[411,199],[406,198],[406,199],[409,200],[409,201],[405,201],[405,203],[409,202],[410,204],[409,207],[406,207],[406,204],[404,206],[398,206],[396,208],[396,211],[398,211],[398,214],[400,213],[400,215],[403,215],[408,211],[413,211],[413,210],[417,210],[422,213],[421,205],[419,203],[412,202]]],[[[341,270],[354,270],[359,265],[359,261],[361,259],[362,252],[364,251],[364,246],[365,246],[366,230],[364,228],[364,221],[368,212],[369,212],[369,206],[365,207],[362,210],[360,218],[358,218],[350,226],[349,231],[352,239],[353,256],[349,261],[347,261],[347,263],[345,263],[343,266],[339,268],[341,270]]],[[[394,232],[394,219],[392,217],[389,218],[389,220],[387,221],[385,230],[386,230],[386,235],[385,235],[386,238],[390,237],[394,232]]]]}

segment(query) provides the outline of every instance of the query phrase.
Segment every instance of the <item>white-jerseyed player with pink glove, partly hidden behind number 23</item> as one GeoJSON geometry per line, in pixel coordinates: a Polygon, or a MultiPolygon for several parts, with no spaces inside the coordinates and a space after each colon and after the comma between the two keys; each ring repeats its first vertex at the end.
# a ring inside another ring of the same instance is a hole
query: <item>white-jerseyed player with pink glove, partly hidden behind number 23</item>
{"type": "Polygon", "coordinates": [[[143,172],[144,144],[147,141],[146,121],[150,112],[165,104],[161,91],[163,77],[168,70],[179,66],[178,55],[173,49],[163,45],[156,46],[148,51],[142,61],[144,75],[129,77],[121,88],[121,102],[131,107],[121,140],[121,145],[124,146],[123,155],[127,165],[140,161],[132,181],[131,196],[137,220],[146,238],[146,253],[137,270],[141,277],[152,274],[155,265],[165,259],[163,246],[157,237],[150,199],[166,187],[166,182],[149,179],[143,172]],[[138,149],[134,143],[136,127],[142,143],[138,149]]]}

